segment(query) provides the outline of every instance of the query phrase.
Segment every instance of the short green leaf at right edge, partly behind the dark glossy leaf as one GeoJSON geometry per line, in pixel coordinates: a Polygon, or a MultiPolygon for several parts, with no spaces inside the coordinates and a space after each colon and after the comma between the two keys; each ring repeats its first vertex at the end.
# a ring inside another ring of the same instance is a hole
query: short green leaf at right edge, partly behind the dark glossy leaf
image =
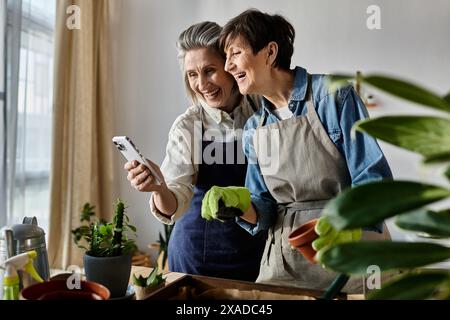
{"type": "Polygon", "coordinates": [[[450,213],[424,208],[401,214],[395,223],[402,229],[424,232],[435,237],[450,237],[450,213]]]}

